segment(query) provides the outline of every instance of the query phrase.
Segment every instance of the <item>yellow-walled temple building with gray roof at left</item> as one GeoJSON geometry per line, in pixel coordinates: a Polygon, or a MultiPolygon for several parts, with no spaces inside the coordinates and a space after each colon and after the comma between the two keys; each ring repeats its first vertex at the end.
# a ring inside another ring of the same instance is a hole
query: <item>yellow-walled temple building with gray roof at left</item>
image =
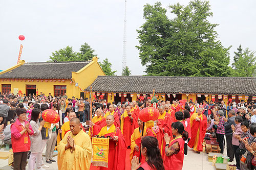
{"type": "Polygon", "coordinates": [[[68,98],[85,96],[83,89],[104,76],[97,57],[92,61],[35,62],[17,65],[0,72],[2,93],[20,95],[45,93],[48,96],[64,95],[68,98]]]}

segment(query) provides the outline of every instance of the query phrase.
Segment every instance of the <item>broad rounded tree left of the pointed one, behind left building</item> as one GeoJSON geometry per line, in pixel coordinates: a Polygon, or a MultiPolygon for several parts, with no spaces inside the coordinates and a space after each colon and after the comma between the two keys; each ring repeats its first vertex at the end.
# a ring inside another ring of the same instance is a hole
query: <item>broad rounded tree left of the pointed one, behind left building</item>
{"type": "Polygon", "coordinates": [[[78,54],[73,51],[72,46],[61,48],[58,51],[52,53],[50,56],[50,62],[62,62],[62,61],[78,61],[80,60],[78,54]]]}

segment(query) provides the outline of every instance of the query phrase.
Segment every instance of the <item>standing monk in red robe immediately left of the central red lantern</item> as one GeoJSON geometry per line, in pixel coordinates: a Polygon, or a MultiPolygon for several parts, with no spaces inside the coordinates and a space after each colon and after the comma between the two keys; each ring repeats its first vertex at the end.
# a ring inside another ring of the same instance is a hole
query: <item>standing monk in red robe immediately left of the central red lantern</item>
{"type": "MultiPolygon", "coordinates": [[[[130,103],[133,104],[133,103],[130,103]]],[[[121,132],[125,139],[125,143],[127,147],[131,145],[131,136],[134,132],[134,129],[138,128],[137,116],[131,112],[131,107],[125,107],[126,112],[124,112],[121,116],[121,132]]]]}

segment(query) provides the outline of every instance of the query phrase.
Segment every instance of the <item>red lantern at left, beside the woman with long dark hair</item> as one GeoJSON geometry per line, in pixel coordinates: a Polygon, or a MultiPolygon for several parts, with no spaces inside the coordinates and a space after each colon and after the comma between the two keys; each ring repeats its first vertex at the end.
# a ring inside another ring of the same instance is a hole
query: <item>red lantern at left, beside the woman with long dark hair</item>
{"type": "Polygon", "coordinates": [[[47,109],[42,112],[42,119],[45,120],[45,128],[51,128],[51,124],[56,124],[59,122],[59,115],[57,112],[51,109],[47,109]]]}

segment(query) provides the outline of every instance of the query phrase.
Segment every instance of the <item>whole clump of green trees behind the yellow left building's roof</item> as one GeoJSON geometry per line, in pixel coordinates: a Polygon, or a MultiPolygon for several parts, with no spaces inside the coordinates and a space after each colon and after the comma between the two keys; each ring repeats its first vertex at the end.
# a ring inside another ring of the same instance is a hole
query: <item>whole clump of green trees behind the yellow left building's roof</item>
{"type": "Polygon", "coordinates": [[[84,43],[80,47],[80,52],[74,52],[72,46],[67,46],[55,51],[50,56],[50,62],[63,62],[63,61],[88,61],[92,60],[94,56],[94,50],[88,43],[84,43]]]}

